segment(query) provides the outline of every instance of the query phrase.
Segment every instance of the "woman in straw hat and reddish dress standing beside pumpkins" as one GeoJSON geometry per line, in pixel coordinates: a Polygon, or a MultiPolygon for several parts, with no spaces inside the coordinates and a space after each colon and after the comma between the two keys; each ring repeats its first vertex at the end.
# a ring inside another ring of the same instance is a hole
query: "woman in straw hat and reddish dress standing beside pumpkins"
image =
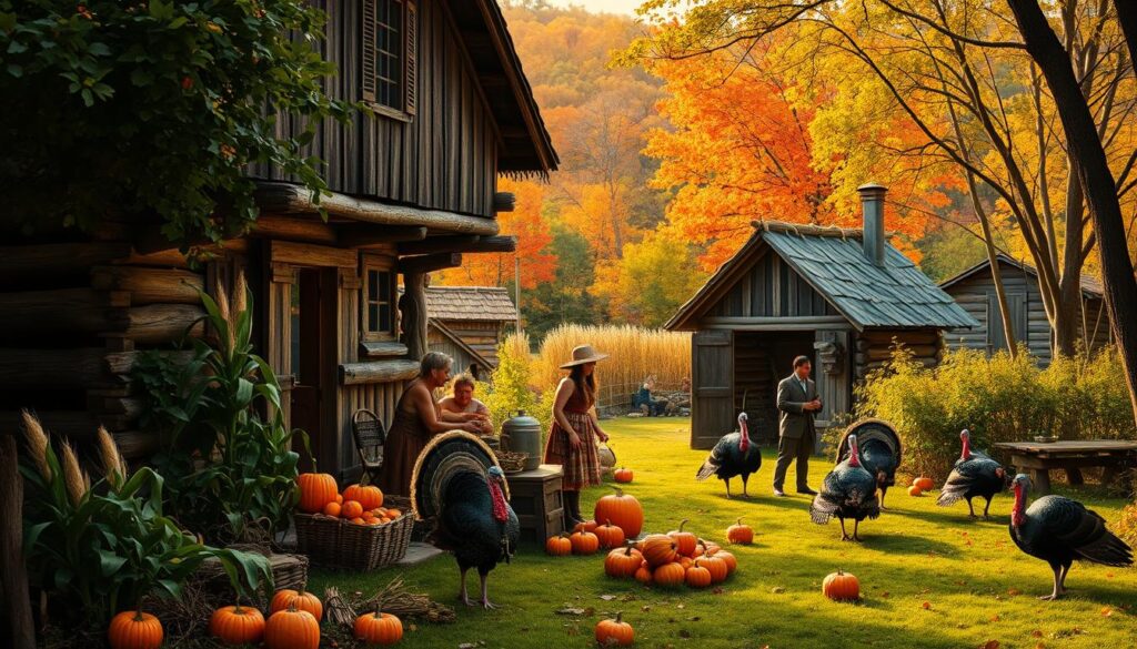
{"type": "Polygon", "coordinates": [[[557,385],[553,403],[553,426],[545,444],[545,463],[564,468],[562,489],[565,502],[565,527],[583,522],[580,515],[580,490],[600,484],[600,458],[597,440],[608,441],[608,434],[596,419],[596,361],[607,358],[591,346],[572,350],[572,360],[561,366],[568,376],[557,385]]]}

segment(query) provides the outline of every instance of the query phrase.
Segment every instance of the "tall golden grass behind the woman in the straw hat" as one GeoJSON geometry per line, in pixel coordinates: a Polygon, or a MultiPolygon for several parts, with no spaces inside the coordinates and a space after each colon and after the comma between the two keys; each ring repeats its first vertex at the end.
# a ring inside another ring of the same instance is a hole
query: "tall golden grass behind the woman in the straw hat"
{"type": "Polygon", "coordinates": [[[597,366],[600,405],[620,402],[655,376],[657,390],[678,390],[691,376],[691,336],[689,333],[637,326],[561,325],[549,332],[533,359],[532,384],[539,390],[555,386],[572,360],[579,344],[591,344],[607,353],[597,366]]]}

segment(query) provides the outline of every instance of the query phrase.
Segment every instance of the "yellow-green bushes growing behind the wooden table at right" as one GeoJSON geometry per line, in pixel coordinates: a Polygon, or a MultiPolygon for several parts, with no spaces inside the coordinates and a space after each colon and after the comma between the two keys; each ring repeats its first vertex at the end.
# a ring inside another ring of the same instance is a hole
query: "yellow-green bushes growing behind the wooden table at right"
{"type": "Polygon", "coordinates": [[[1055,358],[1046,369],[1036,360],[1024,349],[989,359],[962,349],[924,368],[899,347],[857,384],[857,415],[893,422],[904,439],[904,469],[939,479],[958,457],[963,428],[988,451],[1040,434],[1137,438],[1115,351],[1055,358]]]}

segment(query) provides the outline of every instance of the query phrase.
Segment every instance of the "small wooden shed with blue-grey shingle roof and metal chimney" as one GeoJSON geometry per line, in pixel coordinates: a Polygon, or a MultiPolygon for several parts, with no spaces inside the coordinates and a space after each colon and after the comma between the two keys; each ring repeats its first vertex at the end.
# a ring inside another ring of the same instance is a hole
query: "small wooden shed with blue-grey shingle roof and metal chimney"
{"type": "Polygon", "coordinates": [[[864,228],[755,222],[742,248],[664,326],[692,331],[691,447],[709,448],[746,411],[752,435],[778,439],[778,382],[798,355],[813,358],[825,427],[850,409],[853,383],[894,341],[927,365],[940,332],[977,326],[907,257],[886,242],[886,189],[861,188],[864,228]]]}

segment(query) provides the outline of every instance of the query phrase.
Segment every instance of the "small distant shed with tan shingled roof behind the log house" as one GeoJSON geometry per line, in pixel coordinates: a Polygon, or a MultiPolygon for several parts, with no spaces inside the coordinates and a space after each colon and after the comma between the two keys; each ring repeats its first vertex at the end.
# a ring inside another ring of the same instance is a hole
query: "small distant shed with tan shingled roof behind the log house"
{"type": "Polygon", "coordinates": [[[430,349],[454,358],[456,372],[476,366],[478,378],[487,381],[506,327],[517,322],[517,307],[504,288],[429,286],[426,318],[430,349]]]}

